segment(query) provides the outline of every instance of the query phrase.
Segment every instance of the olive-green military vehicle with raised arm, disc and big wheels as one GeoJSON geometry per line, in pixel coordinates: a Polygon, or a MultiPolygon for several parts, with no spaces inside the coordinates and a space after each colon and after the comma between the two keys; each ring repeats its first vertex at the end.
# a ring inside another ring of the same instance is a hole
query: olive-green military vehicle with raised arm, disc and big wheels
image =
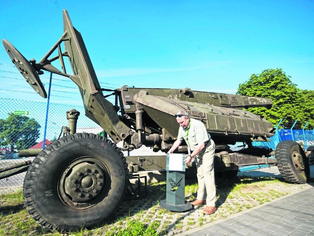
{"type": "MultiPolygon", "coordinates": [[[[63,22],[62,36],[38,62],[26,60],[5,39],[4,48],[29,85],[44,98],[47,93],[39,78],[43,71],[73,80],[80,91],[85,115],[99,124],[109,138],[76,133],[71,128],[68,135],[52,142],[24,167],[27,168],[23,186],[25,206],[39,225],[62,232],[95,227],[109,219],[126,195],[129,169],[132,170],[121,151],[144,145],[166,153],[177,138],[179,125],[175,114],[180,110],[202,121],[216,143],[217,174],[235,176],[238,166],[269,164],[277,165],[289,183],[308,181],[309,165],[298,143],[283,141],[275,151],[252,145],[253,141],[269,141],[275,129],[261,116],[243,108],[270,107],[270,99],[194,91],[188,87],[103,89],[81,34],[72,26],[66,10],[63,22]],[[49,58],[56,50],[58,55],[49,58]],[[65,57],[72,75],[67,74],[65,57]],[[55,60],[59,60],[61,70],[52,65],[55,60]],[[114,105],[106,100],[103,91],[115,96],[114,105]],[[122,150],[116,146],[121,141],[122,150]],[[229,146],[235,142],[243,142],[243,148],[237,152],[229,146]]],[[[69,115],[76,119],[75,112],[69,115]]],[[[178,152],[187,153],[186,144],[178,152]]],[[[132,162],[139,170],[145,170],[153,162],[164,163],[165,157],[141,157],[132,162]]],[[[165,169],[165,166],[156,168],[165,169]]]]}

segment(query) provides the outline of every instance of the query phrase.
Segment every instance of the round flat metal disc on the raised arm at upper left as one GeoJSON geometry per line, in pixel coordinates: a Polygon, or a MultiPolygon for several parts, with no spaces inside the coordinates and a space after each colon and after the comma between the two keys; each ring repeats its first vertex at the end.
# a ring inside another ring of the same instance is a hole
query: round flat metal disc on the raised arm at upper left
{"type": "Polygon", "coordinates": [[[12,62],[21,72],[26,82],[43,98],[47,98],[47,93],[44,85],[39,79],[38,73],[29,61],[6,39],[2,40],[5,51],[8,53],[12,62]]]}

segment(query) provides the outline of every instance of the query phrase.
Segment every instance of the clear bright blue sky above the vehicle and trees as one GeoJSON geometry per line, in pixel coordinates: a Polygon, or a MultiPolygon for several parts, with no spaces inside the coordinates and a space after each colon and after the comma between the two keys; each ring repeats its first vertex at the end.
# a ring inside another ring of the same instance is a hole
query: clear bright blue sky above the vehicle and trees
{"type": "MultiPolygon", "coordinates": [[[[39,61],[63,33],[63,9],[105,86],[235,94],[252,74],[282,68],[300,89],[314,89],[313,0],[2,0],[1,39],[39,61]]],[[[1,44],[0,97],[42,101],[12,91],[33,90],[7,65],[1,44]]],[[[49,73],[41,78],[48,90],[49,73]]],[[[52,102],[79,99],[71,80],[52,83],[52,102]]]]}

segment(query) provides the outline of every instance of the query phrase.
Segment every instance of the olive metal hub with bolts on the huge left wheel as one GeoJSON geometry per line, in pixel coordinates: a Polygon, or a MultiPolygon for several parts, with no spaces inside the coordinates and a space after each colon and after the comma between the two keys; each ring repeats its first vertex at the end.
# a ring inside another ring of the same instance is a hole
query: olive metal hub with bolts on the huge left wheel
{"type": "Polygon", "coordinates": [[[89,162],[74,165],[66,173],[65,192],[77,203],[86,203],[97,197],[105,183],[103,170],[89,162]]]}

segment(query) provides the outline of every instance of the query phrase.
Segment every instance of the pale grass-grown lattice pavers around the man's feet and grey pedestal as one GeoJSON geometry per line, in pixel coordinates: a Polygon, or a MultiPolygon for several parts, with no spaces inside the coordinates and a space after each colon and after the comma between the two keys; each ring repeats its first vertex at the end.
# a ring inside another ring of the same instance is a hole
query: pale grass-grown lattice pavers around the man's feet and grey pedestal
{"type": "MultiPolygon", "coordinates": [[[[146,197],[123,203],[114,216],[115,219],[120,220],[102,227],[103,235],[105,235],[106,230],[121,229],[128,221],[134,219],[145,224],[157,222],[159,223],[158,232],[161,236],[172,236],[311,187],[309,184],[287,184],[283,181],[269,182],[271,178],[254,178],[253,183],[251,183],[252,179],[250,178],[241,177],[240,179],[243,183],[241,189],[232,191],[233,184],[217,187],[216,206],[218,210],[212,215],[202,214],[205,206],[198,206],[186,212],[166,210],[158,206],[159,201],[166,198],[165,184],[148,186],[146,197]]],[[[185,189],[186,201],[191,201],[196,196],[197,185],[195,181],[186,183],[186,185],[191,184],[189,188],[186,186],[185,189]]]]}

